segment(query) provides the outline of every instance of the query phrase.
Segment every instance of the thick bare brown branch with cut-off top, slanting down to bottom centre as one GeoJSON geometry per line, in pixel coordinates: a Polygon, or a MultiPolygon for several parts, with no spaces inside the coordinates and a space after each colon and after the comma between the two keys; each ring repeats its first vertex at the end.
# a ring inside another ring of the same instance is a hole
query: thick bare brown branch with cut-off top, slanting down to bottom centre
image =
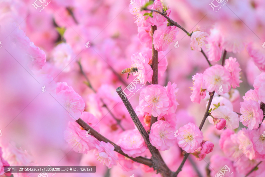
{"type": "Polygon", "coordinates": [[[136,125],[137,129],[139,130],[140,134],[142,135],[145,144],[147,145],[148,149],[150,150],[150,153],[152,154],[151,160],[153,161],[153,168],[158,173],[160,173],[163,177],[169,177],[172,176],[173,173],[170,171],[168,166],[165,164],[163,158],[161,157],[158,149],[156,149],[153,145],[151,145],[149,140],[149,134],[145,131],[145,128],[143,127],[143,124],[140,122],[137,114],[135,113],[134,109],[132,108],[132,105],[130,104],[129,100],[125,96],[125,94],[122,93],[121,87],[118,87],[116,89],[118,95],[122,99],[122,102],[124,103],[125,107],[127,108],[132,121],[136,125]]]}

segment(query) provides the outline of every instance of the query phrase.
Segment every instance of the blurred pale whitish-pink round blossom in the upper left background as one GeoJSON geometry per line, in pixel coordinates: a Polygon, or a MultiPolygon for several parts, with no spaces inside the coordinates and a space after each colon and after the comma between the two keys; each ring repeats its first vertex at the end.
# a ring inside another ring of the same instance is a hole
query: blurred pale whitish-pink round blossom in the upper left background
{"type": "Polygon", "coordinates": [[[60,43],[54,48],[52,58],[55,67],[68,72],[71,69],[69,64],[74,59],[74,53],[69,44],[60,43]]]}

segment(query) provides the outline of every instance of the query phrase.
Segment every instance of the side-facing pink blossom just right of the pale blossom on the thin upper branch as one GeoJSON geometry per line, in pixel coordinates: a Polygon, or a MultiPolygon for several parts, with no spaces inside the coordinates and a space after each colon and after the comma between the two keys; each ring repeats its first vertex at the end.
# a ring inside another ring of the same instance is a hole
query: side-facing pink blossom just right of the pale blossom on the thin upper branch
{"type": "Polygon", "coordinates": [[[222,55],[222,37],[220,31],[216,28],[211,29],[211,34],[208,37],[207,51],[209,61],[219,61],[222,55]]]}

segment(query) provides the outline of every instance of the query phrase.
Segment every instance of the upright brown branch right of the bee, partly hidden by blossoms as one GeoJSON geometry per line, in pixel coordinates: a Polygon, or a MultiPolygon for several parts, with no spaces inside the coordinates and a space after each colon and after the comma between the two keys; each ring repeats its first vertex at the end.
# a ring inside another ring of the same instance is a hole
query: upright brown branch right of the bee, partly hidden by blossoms
{"type": "MultiPolygon", "coordinates": [[[[155,47],[153,45],[153,35],[155,30],[157,30],[156,26],[152,26],[152,69],[153,69],[153,76],[152,76],[152,84],[158,84],[158,51],[155,50],[155,47]]],[[[151,116],[150,121],[150,129],[148,132],[151,131],[151,127],[153,123],[157,121],[157,117],[151,116]]]]}

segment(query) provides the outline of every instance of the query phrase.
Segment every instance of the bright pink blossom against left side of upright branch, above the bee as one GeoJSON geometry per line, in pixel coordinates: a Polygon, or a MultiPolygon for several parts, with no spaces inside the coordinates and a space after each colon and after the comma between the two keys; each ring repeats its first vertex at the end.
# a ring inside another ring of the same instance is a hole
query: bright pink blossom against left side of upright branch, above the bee
{"type": "Polygon", "coordinates": [[[145,47],[152,49],[151,25],[148,27],[138,27],[138,38],[145,47]]]}

